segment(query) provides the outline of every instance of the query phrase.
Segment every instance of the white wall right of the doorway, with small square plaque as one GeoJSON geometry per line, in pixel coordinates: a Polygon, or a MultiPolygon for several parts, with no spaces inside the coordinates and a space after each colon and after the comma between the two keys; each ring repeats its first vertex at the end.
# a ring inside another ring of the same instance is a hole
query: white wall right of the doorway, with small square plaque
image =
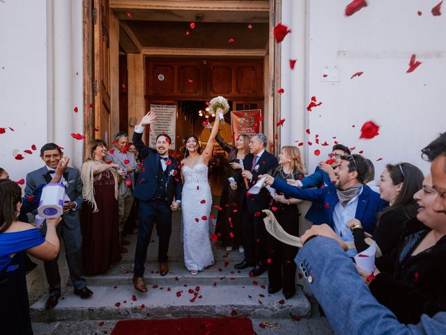
{"type": "MultiPolygon", "coordinates": [[[[446,13],[431,15],[436,0],[375,0],[345,17],[349,2],[283,1],[282,23],[293,27],[284,43],[289,43],[291,54],[307,50],[308,56],[306,69],[300,69],[302,75],[306,73],[307,95],[296,94],[302,91],[299,83],[285,81],[289,87],[282,84],[282,112],[296,115],[291,118],[289,135],[282,136],[282,144],[293,144],[304,137],[313,142],[312,147],[305,144],[309,172],[318,161],[326,159],[334,144],[332,136],[348,147],[356,147],[354,153],[363,150],[364,156],[374,161],[377,176],[386,163],[399,161],[414,163],[428,172],[429,164],[421,160],[420,149],[446,131],[446,13]],[[307,20],[294,28],[294,20],[305,10],[307,20]],[[418,10],[422,16],[417,15],[418,10]],[[305,44],[290,38],[301,31],[307,31],[305,44]],[[411,54],[417,54],[422,64],[413,73],[406,73],[411,54]],[[337,68],[339,81],[323,82],[325,68],[337,68]],[[358,71],[364,74],[351,80],[358,71]],[[311,96],[323,105],[313,112],[293,108],[302,99],[306,106],[311,96]],[[304,127],[298,118],[302,114],[304,127]],[[360,128],[370,119],[380,125],[380,135],[360,140],[360,128]],[[311,135],[302,128],[310,128],[311,135]],[[316,134],[321,143],[326,140],[330,146],[316,145],[316,134]],[[321,156],[314,156],[315,149],[321,150],[321,156]],[[376,162],[380,157],[383,161],[376,162]]],[[[297,74],[289,70],[288,64],[289,54],[282,53],[282,78],[297,74]]],[[[300,66],[299,59],[296,66],[300,66]]]]}

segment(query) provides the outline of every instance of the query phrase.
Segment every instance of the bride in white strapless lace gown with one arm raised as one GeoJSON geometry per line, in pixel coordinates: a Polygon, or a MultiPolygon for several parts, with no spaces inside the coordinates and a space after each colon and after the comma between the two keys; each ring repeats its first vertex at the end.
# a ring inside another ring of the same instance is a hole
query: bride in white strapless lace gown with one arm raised
{"type": "Polygon", "coordinates": [[[209,214],[212,195],[208,183],[208,162],[212,156],[215,135],[220,119],[215,117],[208,144],[202,151],[195,135],[185,137],[184,159],[181,161],[183,193],[181,208],[183,215],[184,262],[191,274],[198,274],[214,264],[210,248],[209,214]]]}

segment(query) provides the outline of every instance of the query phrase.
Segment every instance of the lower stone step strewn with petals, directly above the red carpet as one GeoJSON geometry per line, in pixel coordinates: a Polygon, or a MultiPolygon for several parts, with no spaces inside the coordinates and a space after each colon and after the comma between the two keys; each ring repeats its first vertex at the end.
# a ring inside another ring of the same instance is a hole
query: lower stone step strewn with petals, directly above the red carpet
{"type": "Polygon", "coordinates": [[[33,322],[61,320],[122,320],[133,318],[222,317],[289,318],[290,313],[309,316],[310,303],[298,288],[291,299],[282,292],[268,295],[266,286],[254,285],[163,285],[140,293],[132,285],[95,286],[93,296],[81,299],[65,290],[59,304],[45,309],[43,297],[31,306],[33,322]],[[170,290],[169,290],[170,289],[170,290]],[[190,293],[189,290],[192,290],[190,293]],[[194,293],[196,292],[196,293],[194,293]],[[196,296],[195,299],[192,299],[196,296]],[[192,301],[191,301],[192,300],[192,301]]]}

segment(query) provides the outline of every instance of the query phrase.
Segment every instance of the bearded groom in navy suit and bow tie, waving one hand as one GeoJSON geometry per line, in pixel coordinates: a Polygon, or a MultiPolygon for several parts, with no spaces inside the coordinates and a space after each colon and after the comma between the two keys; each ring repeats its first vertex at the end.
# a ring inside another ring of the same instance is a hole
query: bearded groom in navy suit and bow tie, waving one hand
{"type": "Polygon", "coordinates": [[[169,135],[157,135],[156,150],[146,147],[141,140],[144,126],[152,124],[155,117],[155,113],[148,112],[139,125],[134,127],[132,138],[143,163],[133,193],[134,198],[139,199],[139,228],[133,276],[134,288],[139,292],[147,292],[144,281],[144,263],[153,225],[156,225],[159,237],[160,274],[165,276],[169,272],[167,251],[172,230],[172,211],[178,209],[183,188],[178,161],[169,156],[169,149],[171,149],[169,135]],[[173,201],[174,195],[175,201],[173,201]]]}

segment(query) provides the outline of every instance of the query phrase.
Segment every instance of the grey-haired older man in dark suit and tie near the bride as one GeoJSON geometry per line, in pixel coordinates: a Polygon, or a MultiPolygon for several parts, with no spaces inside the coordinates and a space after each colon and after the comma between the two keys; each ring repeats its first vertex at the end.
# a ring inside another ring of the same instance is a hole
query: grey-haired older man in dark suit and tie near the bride
{"type": "MultiPolygon", "coordinates": [[[[268,139],[266,135],[256,134],[249,140],[249,154],[245,156],[243,177],[248,180],[249,188],[256,184],[259,175],[270,173],[276,168],[277,158],[266,151],[268,139]]],[[[270,204],[270,195],[265,188],[259,194],[249,195],[245,181],[239,178],[235,187],[243,187],[242,192],[242,229],[245,259],[235,265],[236,269],[254,267],[249,276],[259,276],[267,269],[266,228],[261,216],[262,209],[270,204]]]]}

